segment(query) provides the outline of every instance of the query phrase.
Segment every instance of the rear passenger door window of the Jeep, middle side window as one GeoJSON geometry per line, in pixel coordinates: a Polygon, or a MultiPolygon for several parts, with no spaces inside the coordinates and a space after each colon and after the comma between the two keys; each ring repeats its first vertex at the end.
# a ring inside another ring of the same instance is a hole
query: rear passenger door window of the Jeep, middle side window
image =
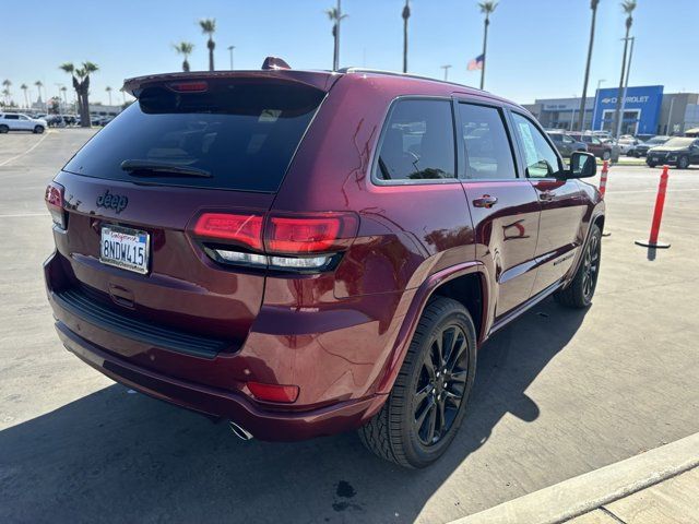
{"type": "Polygon", "coordinates": [[[459,104],[465,178],[517,178],[502,112],[495,107],[459,104]]]}

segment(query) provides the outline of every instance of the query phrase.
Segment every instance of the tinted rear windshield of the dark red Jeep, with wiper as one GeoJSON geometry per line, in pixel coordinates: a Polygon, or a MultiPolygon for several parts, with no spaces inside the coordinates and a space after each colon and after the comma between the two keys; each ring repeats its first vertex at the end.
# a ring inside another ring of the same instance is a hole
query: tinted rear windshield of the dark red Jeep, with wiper
{"type": "Polygon", "coordinates": [[[63,169],[139,183],[274,192],[323,96],[259,80],[209,82],[204,93],[146,87],[63,169]],[[161,168],[135,174],[122,169],[125,160],[161,168]]]}

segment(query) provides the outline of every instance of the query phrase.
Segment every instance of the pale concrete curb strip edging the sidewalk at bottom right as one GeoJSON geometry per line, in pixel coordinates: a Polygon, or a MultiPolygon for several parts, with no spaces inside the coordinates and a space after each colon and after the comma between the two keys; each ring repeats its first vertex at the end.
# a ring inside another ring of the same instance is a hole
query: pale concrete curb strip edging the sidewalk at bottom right
{"type": "Polygon", "coordinates": [[[699,433],[450,524],[564,522],[699,466],[699,433]]]}

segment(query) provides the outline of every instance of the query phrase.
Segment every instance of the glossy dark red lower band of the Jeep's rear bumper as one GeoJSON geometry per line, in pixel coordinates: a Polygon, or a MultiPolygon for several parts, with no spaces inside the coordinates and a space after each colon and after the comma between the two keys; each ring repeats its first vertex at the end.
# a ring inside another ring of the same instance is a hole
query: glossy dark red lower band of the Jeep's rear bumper
{"type": "Polygon", "coordinates": [[[362,426],[386,401],[374,395],[307,412],[262,409],[242,394],[166,377],[107,353],[56,322],[67,349],[84,362],[133,390],[210,416],[234,420],[257,439],[294,441],[334,434],[362,426]]]}

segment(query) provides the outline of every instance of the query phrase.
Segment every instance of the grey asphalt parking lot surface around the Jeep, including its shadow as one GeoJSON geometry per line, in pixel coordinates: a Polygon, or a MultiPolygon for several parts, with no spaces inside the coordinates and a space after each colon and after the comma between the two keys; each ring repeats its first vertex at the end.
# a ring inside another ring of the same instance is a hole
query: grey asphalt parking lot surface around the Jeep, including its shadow
{"type": "MultiPolygon", "coordinates": [[[[479,354],[464,426],[426,471],[355,434],[241,442],[66,352],[46,302],[46,183],[85,130],[0,135],[0,522],[440,523],[699,431],[699,168],[614,167],[587,311],[541,303],[479,354]]],[[[596,183],[596,179],[594,180],[596,183]]]]}

